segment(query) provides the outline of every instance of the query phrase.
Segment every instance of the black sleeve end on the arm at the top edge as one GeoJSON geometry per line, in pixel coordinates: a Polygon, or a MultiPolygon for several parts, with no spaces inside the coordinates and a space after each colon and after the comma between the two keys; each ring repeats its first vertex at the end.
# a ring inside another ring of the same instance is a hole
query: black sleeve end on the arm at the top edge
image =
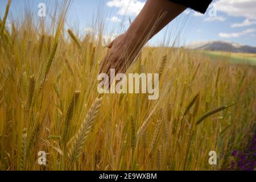
{"type": "Polygon", "coordinates": [[[190,7],[193,10],[205,13],[212,0],[170,0],[180,5],[190,7]]]}

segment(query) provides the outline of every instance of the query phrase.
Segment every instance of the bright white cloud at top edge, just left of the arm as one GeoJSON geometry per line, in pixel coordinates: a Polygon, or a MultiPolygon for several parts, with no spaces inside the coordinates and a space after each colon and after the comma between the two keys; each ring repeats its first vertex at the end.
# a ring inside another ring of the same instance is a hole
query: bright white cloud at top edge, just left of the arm
{"type": "Polygon", "coordinates": [[[106,3],[106,6],[119,8],[119,15],[136,16],[142,10],[144,4],[139,0],[111,0],[106,3]]]}

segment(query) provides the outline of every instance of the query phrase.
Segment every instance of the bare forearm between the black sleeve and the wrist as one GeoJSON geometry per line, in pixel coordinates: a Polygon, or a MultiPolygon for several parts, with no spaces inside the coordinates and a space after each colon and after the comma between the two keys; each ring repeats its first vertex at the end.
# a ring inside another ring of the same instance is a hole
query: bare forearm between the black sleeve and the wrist
{"type": "Polygon", "coordinates": [[[168,0],[147,0],[142,11],[127,30],[141,42],[147,42],[186,7],[168,0]]]}

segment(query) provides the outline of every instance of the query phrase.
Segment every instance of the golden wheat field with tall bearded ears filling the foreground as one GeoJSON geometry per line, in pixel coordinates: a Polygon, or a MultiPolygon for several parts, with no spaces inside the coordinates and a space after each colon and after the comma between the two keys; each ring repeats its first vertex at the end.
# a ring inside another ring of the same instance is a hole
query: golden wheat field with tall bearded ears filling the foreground
{"type": "MultiPolygon", "coordinates": [[[[10,1],[9,1],[10,2],[10,1]]],[[[159,73],[159,98],[98,94],[101,36],[30,14],[0,22],[0,170],[220,170],[255,132],[256,69],[184,48],[145,47],[130,73],[159,73]],[[47,24],[48,23],[48,24],[47,24]],[[38,164],[38,152],[46,164],[38,164]],[[210,165],[209,152],[217,164],[210,165]]]]}

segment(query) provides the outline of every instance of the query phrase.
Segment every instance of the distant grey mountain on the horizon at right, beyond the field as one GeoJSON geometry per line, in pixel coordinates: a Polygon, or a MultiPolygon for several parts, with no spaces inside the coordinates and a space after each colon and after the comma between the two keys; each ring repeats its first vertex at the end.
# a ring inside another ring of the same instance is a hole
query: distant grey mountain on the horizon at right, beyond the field
{"type": "Polygon", "coordinates": [[[256,47],[245,46],[242,44],[224,42],[224,41],[205,41],[205,42],[192,42],[186,48],[201,49],[209,51],[229,51],[229,52],[243,52],[243,53],[256,53],[256,47]]]}

